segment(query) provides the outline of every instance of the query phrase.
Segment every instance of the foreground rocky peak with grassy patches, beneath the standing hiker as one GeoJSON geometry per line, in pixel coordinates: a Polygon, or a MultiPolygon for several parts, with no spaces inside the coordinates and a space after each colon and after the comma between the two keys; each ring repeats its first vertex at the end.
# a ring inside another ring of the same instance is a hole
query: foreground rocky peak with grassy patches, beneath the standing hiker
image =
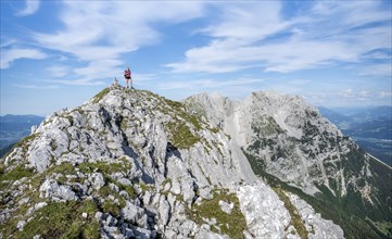
{"type": "MultiPolygon", "coordinates": [[[[49,115],[1,161],[2,236],[299,238],[286,202],[217,123],[116,84],[49,115]]],[[[343,237],[291,200],[316,228],[309,238],[343,237]]]]}

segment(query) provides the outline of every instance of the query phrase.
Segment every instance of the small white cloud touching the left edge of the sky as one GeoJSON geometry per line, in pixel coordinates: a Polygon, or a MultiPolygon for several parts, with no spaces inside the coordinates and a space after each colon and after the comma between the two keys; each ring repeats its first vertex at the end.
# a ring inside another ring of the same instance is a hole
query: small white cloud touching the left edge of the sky
{"type": "Polygon", "coordinates": [[[0,68],[8,68],[11,64],[18,59],[45,59],[47,55],[36,49],[1,49],[1,64],[0,68]]]}

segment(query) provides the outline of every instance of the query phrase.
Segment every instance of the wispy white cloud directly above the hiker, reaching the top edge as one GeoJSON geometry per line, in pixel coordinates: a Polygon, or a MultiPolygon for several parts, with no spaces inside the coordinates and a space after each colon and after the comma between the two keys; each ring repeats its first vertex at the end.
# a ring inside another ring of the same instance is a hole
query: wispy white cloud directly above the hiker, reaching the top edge
{"type": "Polygon", "coordinates": [[[35,34],[45,48],[86,63],[77,77],[112,77],[126,63],[122,56],[161,40],[155,23],[179,23],[203,14],[203,2],[166,1],[64,1],[60,21],[64,29],[35,34]]]}

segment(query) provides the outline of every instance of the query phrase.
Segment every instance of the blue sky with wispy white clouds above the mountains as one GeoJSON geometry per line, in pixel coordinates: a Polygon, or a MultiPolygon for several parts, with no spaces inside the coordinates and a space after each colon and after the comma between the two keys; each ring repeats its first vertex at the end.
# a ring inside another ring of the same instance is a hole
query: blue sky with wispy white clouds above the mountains
{"type": "Polygon", "coordinates": [[[174,100],[299,95],[391,105],[391,1],[1,1],[0,114],[74,108],[113,81],[174,100]]]}

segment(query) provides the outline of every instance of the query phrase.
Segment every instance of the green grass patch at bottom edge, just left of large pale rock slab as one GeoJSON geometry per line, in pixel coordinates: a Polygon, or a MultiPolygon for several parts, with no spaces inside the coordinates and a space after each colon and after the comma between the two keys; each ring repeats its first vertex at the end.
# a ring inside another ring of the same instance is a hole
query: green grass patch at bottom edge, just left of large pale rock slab
{"type": "Polygon", "coordinates": [[[204,200],[200,205],[193,204],[192,209],[188,211],[192,221],[198,224],[204,224],[204,218],[216,218],[216,226],[220,228],[223,234],[230,238],[243,238],[243,230],[246,229],[246,221],[240,210],[240,203],[236,193],[227,193],[227,191],[214,191],[212,200],[204,200]],[[233,203],[233,209],[230,214],[222,211],[219,201],[233,203]]]}

